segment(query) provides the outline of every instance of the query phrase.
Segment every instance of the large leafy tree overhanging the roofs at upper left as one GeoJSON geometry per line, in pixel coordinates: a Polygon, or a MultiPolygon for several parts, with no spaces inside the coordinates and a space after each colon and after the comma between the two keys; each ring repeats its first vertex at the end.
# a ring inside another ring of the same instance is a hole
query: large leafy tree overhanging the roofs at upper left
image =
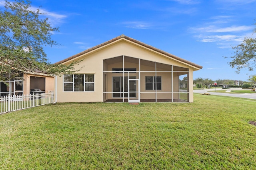
{"type": "Polygon", "coordinates": [[[0,11],[0,80],[6,82],[20,72],[56,74],[72,72],[74,63],[51,64],[45,46],[58,45],[51,39],[52,27],[45,14],[33,11],[29,0],[5,0],[0,11]]]}

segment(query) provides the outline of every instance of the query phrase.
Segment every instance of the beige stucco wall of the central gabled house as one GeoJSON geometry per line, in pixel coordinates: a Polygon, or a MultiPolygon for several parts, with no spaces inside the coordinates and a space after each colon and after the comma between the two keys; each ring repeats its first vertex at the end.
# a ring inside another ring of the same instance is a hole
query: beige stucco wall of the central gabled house
{"type": "MultiPolygon", "coordinates": [[[[111,74],[107,73],[106,77],[103,74],[103,68],[104,70],[112,70],[112,68],[122,68],[122,63],[114,63],[114,64],[107,64],[104,63],[104,59],[110,59],[113,57],[118,56],[129,56],[134,57],[138,59],[144,59],[147,61],[153,61],[158,63],[164,63],[164,64],[170,64],[175,66],[180,66],[184,68],[189,68],[189,75],[190,75],[190,84],[193,83],[193,80],[191,80],[192,72],[195,70],[195,68],[192,68],[188,66],[188,64],[182,63],[180,61],[175,61],[173,59],[170,59],[170,57],[164,56],[160,53],[157,53],[155,51],[150,51],[148,49],[145,49],[144,47],[130,43],[129,41],[120,40],[115,41],[113,44],[106,45],[104,47],[100,47],[95,51],[88,52],[83,56],[80,57],[80,59],[83,59],[82,62],[79,63],[79,65],[75,65],[74,68],[77,71],[78,74],[94,74],[94,92],[64,92],[63,90],[63,76],[57,77],[57,102],[103,102],[105,96],[103,95],[103,90],[106,89],[106,91],[111,91],[112,89],[112,76],[111,74]],[[81,68],[81,66],[83,66],[81,68]],[[121,67],[120,67],[121,66],[121,67]],[[106,87],[104,85],[103,80],[106,78],[106,87]]],[[[72,62],[72,61],[70,61],[72,62]]],[[[64,63],[64,64],[68,64],[64,63]]],[[[138,69],[138,64],[134,63],[125,63],[125,68],[134,68],[136,67],[138,69]]],[[[145,68],[146,69],[146,68],[145,68]]],[[[141,68],[142,70],[142,68],[141,68]]],[[[155,72],[141,72],[141,84],[140,84],[140,90],[141,92],[146,91],[145,90],[145,76],[151,75],[154,76],[155,72]]],[[[160,74],[160,73],[157,73],[160,74]]],[[[170,73],[169,73],[170,74],[170,73]]],[[[115,76],[118,75],[118,73],[115,74],[115,76]]],[[[166,91],[170,90],[170,84],[171,82],[171,76],[168,75],[168,72],[162,72],[161,75],[164,77],[164,81],[162,82],[162,89],[166,89],[166,91]],[[169,84],[170,83],[170,84],[169,84]]],[[[177,81],[175,86],[173,87],[173,91],[178,91],[178,75],[175,74],[173,76],[173,80],[177,81]]],[[[189,86],[190,87],[190,86],[189,86]]],[[[190,88],[191,90],[191,88],[190,88]]],[[[148,91],[148,90],[147,90],[148,91]]],[[[193,96],[192,90],[190,91],[190,98],[189,102],[192,102],[193,96]]],[[[144,95],[144,94],[143,94],[144,95]]],[[[145,94],[147,95],[147,94],[145,94]]],[[[164,94],[161,94],[162,97],[164,94]]],[[[160,96],[161,96],[160,95],[160,96]]],[[[178,95],[178,94],[177,94],[178,95]]],[[[106,96],[111,97],[111,94],[106,94],[106,96]]],[[[175,96],[177,97],[177,96],[175,96]]]]}

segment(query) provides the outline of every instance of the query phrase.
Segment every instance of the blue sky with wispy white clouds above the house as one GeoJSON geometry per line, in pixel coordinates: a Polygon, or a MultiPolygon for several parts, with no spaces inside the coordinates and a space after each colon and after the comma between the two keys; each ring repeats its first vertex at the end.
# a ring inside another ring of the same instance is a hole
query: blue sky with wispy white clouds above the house
{"type": "MultiPolygon", "coordinates": [[[[223,56],[253,33],[256,0],[31,0],[60,31],[58,47],[45,49],[51,63],[121,34],[203,66],[194,79],[247,80],[223,56]]],[[[96,63],[97,64],[97,63],[96,63]]]]}

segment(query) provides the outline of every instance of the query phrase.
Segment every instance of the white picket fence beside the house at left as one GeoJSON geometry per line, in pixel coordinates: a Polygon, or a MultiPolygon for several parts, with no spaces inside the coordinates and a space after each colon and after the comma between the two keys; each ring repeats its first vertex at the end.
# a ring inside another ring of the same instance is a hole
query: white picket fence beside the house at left
{"type": "Polygon", "coordinates": [[[36,107],[54,102],[54,92],[32,93],[25,95],[2,96],[0,108],[2,113],[36,107]]]}

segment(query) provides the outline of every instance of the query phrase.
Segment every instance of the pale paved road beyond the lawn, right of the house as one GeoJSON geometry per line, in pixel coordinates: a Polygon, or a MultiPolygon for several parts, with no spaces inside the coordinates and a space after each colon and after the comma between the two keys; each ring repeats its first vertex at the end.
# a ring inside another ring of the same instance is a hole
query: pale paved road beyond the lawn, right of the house
{"type": "MultiPolygon", "coordinates": [[[[214,90],[215,88],[194,90],[194,93],[200,93],[200,94],[209,93],[209,94],[218,95],[218,96],[230,96],[230,97],[237,97],[237,98],[256,99],[256,93],[232,94],[232,93],[208,92],[208,91],[214,91],[214,90]]],[[[242,88],[228,88],[228,89],[216,88],[216,90],[242,90],[242,88]]]]}

